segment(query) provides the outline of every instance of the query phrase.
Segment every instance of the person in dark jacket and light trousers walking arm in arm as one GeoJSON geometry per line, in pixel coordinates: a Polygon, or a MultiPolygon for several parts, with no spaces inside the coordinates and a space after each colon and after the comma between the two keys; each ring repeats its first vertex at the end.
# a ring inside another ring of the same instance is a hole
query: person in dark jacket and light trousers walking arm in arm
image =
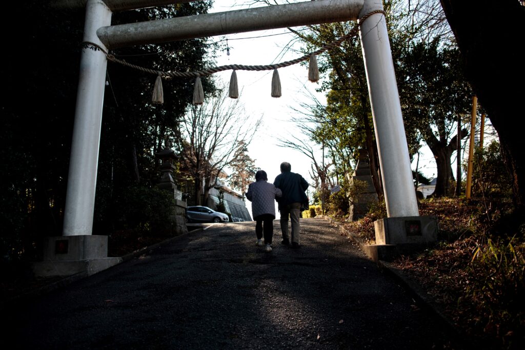
{"type": "Polygon", "coordinates": [[[299,248],[299,215],[301,203],[308,200],[304,193],[308,188],[308,182],[300,174],[292,173],[291,168],[290,163],[282,162],[281,173],[275,178],[274,185],[282,191],[282,197],[277,201],[281,213],[281,243],[290,244],[288,237],[288,219],[290,219],[292,248],[299,248]]]}

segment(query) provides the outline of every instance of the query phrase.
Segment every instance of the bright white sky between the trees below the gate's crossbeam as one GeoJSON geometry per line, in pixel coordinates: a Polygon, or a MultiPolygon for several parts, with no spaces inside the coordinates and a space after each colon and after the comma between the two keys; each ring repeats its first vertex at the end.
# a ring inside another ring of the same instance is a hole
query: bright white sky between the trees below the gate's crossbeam
{"type": "MultiPolygon", "coordinates": [[[[281,30],[282,32],[282,30],[281,30]]],[[[250,37],[268,35],[266,32],[253,32],[244,35],[228,36],[230,56],[219,57],[217,65],[268,65],[300,57],[298,54],[286,54],[277,59],[281,47],[286,45],[286,38],[291,35],[264,37],[260,39],[233,40],[235,37],[250,37]],[[231,37],[231,39],[230,39],[231,37]],[[278,43],[277,40],[280,42],[278,43]]],[[[257,120],[262,116],[263,124],[255,139],[248,147],[251,158],[256,165],[268,173],[269,178],[279,174],[279,164],[287,161],[292,165],[292,171],[305,178],[310,169],[310,160],[300,152],[286,147],[278,147],[278,139],[288,139],[290,135],[300,137],[297,126],[291,122],[295,113],[292,108],[299,109],[300,102],[309,102],[305,94],[307,89],[316,93],[317,84],[308,81],[308,69],[299,64],[278,70],[281,81],[282,96],[272,98],[271,80],[273,72],[268,71],[237,71],[239,84],[239,102],[244,105],[246,113],[257,120]]],[[[229,81],[232,71],[217,73],[225,81],[229,81]]],[[[324,97],[316,93],[318,98],[324,97]]],[[[308,179],[308,181],[310,181],[308,179]]]]}

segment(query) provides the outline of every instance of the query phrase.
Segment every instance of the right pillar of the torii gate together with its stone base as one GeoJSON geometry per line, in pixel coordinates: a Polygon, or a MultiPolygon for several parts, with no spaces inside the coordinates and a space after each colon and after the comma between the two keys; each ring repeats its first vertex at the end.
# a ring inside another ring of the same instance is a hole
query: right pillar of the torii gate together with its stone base
{"type": "MultiPolygon", "coordinates": [[[[365,1],[360,17],[383,9],[380,0],[365,1]]],[[[436,217],[419,216],[406,142],[401,103],[383,14],[373,14],[360,26],[375,139],[387,217],[374,222],[376,245],[367,246],[374,259],[389,259],[413,246],[437,240],[436,217]]]]}

